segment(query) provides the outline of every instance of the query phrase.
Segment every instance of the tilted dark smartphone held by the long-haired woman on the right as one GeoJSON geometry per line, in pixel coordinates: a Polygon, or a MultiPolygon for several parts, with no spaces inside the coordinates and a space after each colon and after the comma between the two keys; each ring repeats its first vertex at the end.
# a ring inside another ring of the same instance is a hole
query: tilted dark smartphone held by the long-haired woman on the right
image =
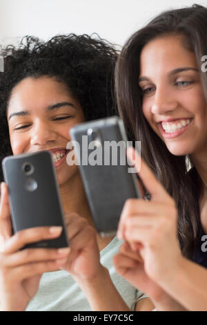
{"type": "Polygon", "coordinates": [[[70,136],[95,228],[112,236],[125,201],[141,198],[137,175],[129,172],[124,123],[117,116],[84,122],[72,127],[70,136]]]}

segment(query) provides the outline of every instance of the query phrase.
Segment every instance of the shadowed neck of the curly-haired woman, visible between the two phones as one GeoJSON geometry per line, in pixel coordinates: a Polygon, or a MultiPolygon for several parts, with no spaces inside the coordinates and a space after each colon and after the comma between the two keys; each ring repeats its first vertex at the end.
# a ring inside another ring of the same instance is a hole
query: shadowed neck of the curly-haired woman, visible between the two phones
{"type": "Polygon", "coordinates": [[[75,212],[86,218],[90,225],[93,225],[90,208],[83,188],[83,183],[79,172],[75,174],[67,183],[60,185],[63,211],[66,215],[75,212]]]}

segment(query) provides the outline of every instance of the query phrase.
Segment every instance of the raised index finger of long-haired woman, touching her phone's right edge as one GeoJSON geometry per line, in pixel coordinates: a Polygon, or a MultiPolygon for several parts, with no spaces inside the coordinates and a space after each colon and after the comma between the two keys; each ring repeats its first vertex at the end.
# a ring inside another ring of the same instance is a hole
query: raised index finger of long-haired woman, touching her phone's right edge
{"type": "Polygon", "coordinates": [[[170,196],[161,183],[159,183],[159,180],[157,180],[150,167],[148,167],[138,152],[133,147],[129,147],[127,149],[127,156],[132,162],[135,163],[135,169],[137,170],[137,173],[139,173],[139,177],[141,178],[144,187],[146,187],[147,191],[151,194],[152,201],[166,201],[166,199],[170,196]],[[141,168],[139,163],[140,160],[141,168]]]}

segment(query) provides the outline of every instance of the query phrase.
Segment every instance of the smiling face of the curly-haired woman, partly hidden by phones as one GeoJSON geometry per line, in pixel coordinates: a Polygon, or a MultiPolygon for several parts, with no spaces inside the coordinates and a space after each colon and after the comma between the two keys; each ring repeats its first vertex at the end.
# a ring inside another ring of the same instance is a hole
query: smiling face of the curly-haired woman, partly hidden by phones
{"type": "Polygon", "coordinates": [[[77,172],[66,162],[66,146],[70,128],[85,118],[65,84],[52,77],[27,77],[12,90],[7,118],[14,155],[52,151],[59,185],[77,172]]]}

